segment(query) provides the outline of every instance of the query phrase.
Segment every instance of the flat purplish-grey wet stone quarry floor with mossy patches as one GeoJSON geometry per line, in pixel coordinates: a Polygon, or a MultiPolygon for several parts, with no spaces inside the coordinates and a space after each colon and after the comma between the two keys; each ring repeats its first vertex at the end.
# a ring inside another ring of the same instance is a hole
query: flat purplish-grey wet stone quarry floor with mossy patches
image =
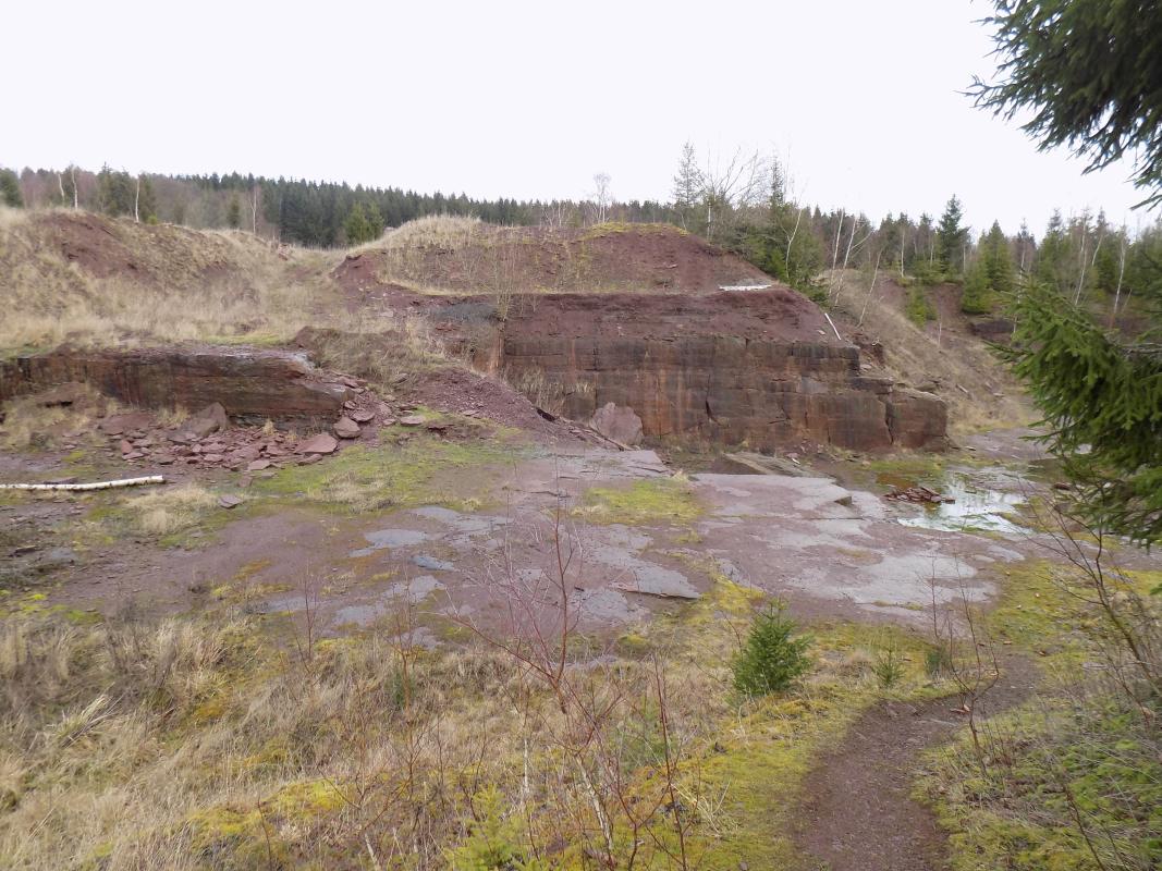
{"type": "MultiPolygon", "coordinates": [[[[324,460],[317,467],[323,480],[329,462],[337,477],[347,474],[338,458],[324,460]]],[[[50,458],[8,455],[3,463],[26,476],[60,474],[50,458]]],[[[855,478],[860,472],[838,470],[855,478]]],[[[372,510],[299,498],[299,472],[274,473],[273,482],[288,478],[277,491],[266,482],[239,489],[231,481],[238,475],[210,473],[205,483],[239,494],[243,505],[210,506],[199,519],[206,528],[188,530],[175,547],[116,527],[112,540],[86,537],[92,521],[85,513],[106,511],[84,508],[92,496],[13,496],[0,506],[9,530],[5,545],[13,542],[12,554],[31,548],[19,559],[52,578],[36,590],[50,604],[108,616],[244,599],[249,609],[278,616],[301,611],[307,595],[320,631],[337,634],[388,620],[406,600],[421,624],[432,624],[433,638],[450,621],[519,629],[509,607],[514,596],[540,602],[562,582],[558,542],[571,554],[564,582],[579,628],[594,633],[679,607],[722,577],[787,600],[806,621],[923,628],[933,602],[988,602],[998,573],[1039,547],[1035,535],[1007,527],[926,528],[930,510],[830,476],[687,475],[648,449],[522,445],[467,466],[437,463],[402,506],[372,510]],[[70,541],[73,523],[81,530],[70,541]],[[27,533],[16,531],[21,525],[27,533]],[[55,531],[56,546],[41,547],[36,528],[55,531]]],[[[134,474],[173,477],[160,467],[134,474]]],[[[1012,476],[1009,485],[1030,484],[1012,476]]],[[[874,481],[870,487],[883,490],[874,481]]],[[[382,488],[390,498],[389,476],[382,488]]]]}

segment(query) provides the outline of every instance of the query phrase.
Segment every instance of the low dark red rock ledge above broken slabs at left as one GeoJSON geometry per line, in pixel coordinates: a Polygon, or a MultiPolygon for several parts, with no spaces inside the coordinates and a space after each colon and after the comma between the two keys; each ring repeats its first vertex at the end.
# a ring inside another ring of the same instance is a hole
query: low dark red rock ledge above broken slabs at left
{"type": "Polygon", "coordinates": [[[235,347],[57,348],[0,363],[0,402],[55,384],[84,382],[125,404],[203,409],[232,418],[335,419],[354,396],[301,354],[235,347]]]}

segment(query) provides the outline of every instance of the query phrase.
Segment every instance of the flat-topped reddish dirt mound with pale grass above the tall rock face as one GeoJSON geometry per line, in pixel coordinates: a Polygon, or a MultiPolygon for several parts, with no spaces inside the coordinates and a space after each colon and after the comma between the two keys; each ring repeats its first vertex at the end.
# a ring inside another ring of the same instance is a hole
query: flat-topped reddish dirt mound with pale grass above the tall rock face
{"type": "Polygon", "coordinates": [[[492,226],[466,218],[414,222],[349,254],[333,276],[353,296],[428,293],[710,293],[770,285],[741,258],[666,224],[589,229],[492,226]],[[444,223],[439,223],[444,222],[444,223]]]}

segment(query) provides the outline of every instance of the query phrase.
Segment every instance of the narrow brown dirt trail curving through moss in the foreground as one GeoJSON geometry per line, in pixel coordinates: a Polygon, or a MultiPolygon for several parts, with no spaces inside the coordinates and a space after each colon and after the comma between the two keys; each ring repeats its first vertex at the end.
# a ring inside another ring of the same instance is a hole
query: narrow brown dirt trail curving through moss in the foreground
{"type": "MultiPolygon", "coordinates": [[[[1024,658],[1002,665],[1003,677],[982,707],[995,715],[1021,703],[1037,683],[1024,658]]],[[[792,835],[812,871],[939,871],[947,868],[947,833],[930,807],[911,796],[920,754],[964,726],[957,699],[888,701],[860,718],[840,748],[803,784],[806,800],[792,835]]]]}

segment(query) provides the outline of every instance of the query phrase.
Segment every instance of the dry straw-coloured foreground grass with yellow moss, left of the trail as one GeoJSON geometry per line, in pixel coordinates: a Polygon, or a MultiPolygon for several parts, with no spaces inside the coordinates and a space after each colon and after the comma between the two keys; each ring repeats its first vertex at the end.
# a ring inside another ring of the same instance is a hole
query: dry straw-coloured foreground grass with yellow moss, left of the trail
{"type": "MultiPolygon", "coordinates": [[[[734,866],[711,856],[744,825],[723,802],[734,775],[718,782],[703,766],[769,754],[759,740],[768,729],[784,735],[783,753],[815,722],[818,699],[838,698],[829,688],[844,682],[870,698],[874,678],[851,664],[858,653],[832,650],[795,700],[737,707],[729,658],[753,597],[729,582],[720,593],[680,621],[627,634],[619,645],[632,655],[574,638],[568,704],[616,705],[590,760],[601,764],[580,778],[579,760],[554,742],[569,729],[557,694],[488,647],[411,647],[414,614],[331,641],[300,622],[289,645],[263,631],[270,621],[243,616],[95,627],[9,618],[0,622],[0,864],[444,868],[445,851],[469,837],[481,790],[495,786],[528,814],[522,849],[555,844],[553,866],[588,866],[583,850],[600,837],[586,778],[615,766],[633,807],[665,785],[651,701],[658,656],[688,849],[711,857],[703,866],[734,866]],[[718,740],[729,755],[710,750],[718,740]]],[[[783,776],[797,776],[801,764],[788,765],[783,776]]],[[[761,819],[765,830],[747,834],[768,838],[770,816],[761,819]]],[[[654,825],[672,848],[672,818],[654,825]]],[[[638,866],[677,866],[640,834],[638,866]]]]}

